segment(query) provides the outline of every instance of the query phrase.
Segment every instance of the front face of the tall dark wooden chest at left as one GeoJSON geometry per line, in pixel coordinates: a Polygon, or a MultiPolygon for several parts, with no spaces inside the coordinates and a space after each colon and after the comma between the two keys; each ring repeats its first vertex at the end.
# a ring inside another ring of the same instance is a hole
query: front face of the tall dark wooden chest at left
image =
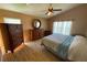
{"type": "Polygon", "coordinates": [[[18,47],[20,44],[23,43],[23,29],[22,24],[8,24],[8,30],[9,30],[9,35],[10,35],[10,47],[14,50],[18,47]]]}

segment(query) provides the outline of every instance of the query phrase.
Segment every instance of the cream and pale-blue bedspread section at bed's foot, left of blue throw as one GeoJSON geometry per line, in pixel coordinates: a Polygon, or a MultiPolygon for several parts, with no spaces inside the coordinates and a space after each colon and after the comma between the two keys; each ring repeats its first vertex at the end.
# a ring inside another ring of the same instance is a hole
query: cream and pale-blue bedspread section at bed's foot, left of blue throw
{"type": "Polygon", "coordinates": [[[42,43],[52,48],[54,52],[56,52],[56,48],[61,43],[63,43],[68,35],[63,35],[63,34],[52,34],[48,36],[43,37],[42,43]]]}

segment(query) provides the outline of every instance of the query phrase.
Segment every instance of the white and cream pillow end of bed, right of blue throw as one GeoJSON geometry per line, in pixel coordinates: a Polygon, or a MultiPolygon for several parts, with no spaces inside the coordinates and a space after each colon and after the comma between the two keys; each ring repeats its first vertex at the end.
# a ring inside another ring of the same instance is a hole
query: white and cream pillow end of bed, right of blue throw
{"type": "Polygon", "coordinates": [[[68,50],[68,59],[87,61],[87,40],[76,35],[68,50]]]}

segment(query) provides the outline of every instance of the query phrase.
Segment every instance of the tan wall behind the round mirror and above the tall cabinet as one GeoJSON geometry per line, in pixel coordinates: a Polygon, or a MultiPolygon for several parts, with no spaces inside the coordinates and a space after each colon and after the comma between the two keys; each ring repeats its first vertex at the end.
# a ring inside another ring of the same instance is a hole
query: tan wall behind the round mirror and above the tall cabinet
{"type": "MultiPolygon", "coordinates": [[[[22,13],[0,9],[0,20],[2,20],[2,18],[21,19],[22,24],[23,24],[23,33],[24,33],[24,41],[25,42],[29,41],[29,35],[28,34],[29,34],[29,29],[32,29],[32,20],[33,19],[40,19],[41,22],[42,22],[41,29],[44,29],[44,30],[47,29],[46,20],[43,19],[43,18],[26,15],[26,14],[22,14],[22,13]]],[[[0,22],[2,23],[3,21],[0,21],[0,22]]]]}

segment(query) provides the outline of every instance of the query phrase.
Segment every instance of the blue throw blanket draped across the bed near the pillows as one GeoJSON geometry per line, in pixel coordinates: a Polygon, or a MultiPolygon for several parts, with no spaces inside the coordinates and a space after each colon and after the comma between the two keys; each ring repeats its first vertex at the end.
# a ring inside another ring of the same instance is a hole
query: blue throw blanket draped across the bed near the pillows
{"type": "Polygon", "coordinates": [[[72,44],[74,40],[74,36],[67,36],[67,39],[58,45],[57,47],[57,55],[61,56],[62,58],[66,59],[68,55],[68,47],[72,44]]]}

